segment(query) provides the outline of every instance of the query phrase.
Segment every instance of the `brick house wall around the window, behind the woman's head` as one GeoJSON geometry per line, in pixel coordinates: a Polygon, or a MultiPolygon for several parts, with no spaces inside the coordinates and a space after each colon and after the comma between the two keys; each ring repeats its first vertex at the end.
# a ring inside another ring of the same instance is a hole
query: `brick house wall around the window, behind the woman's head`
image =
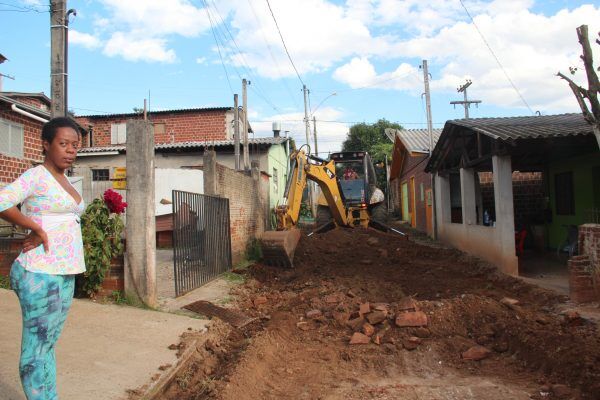
{"type": "Polygon", "coordinates": [[[0,154],[0,186],[3,186],[31,168],[33,162],[42,161],[42,123],[15,113],[8,104],[0,104],[0,118],[22,125],[24,134],[23,158],[0,154]]]}

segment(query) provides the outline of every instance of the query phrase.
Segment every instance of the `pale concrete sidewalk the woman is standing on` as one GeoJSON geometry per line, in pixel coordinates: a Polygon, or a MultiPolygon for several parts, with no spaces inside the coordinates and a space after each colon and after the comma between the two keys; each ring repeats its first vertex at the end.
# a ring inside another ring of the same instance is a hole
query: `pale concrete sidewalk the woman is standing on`
{"type": "MultiPolygon", "coordinates": [[[[21,310],[16,295],[0,289],[0,399],[24,400],[19,381],[21,310]]],[[[74,300],[57,346],[61,400],[117,400],[175,364],[170,344],[208,321],[134,307],[74,300]]]]}

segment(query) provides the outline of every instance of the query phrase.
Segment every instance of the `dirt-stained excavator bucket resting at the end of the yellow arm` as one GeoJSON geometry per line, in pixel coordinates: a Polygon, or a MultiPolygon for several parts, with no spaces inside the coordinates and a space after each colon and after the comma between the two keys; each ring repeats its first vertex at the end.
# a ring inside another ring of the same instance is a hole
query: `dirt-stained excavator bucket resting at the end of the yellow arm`
{"type": "Polygon", "coordinates": [[[275,267],[294,266],[294,253],[300,241],[300,230],[267,231],[263,233],[262,253],[263,262],[275,267]]]}

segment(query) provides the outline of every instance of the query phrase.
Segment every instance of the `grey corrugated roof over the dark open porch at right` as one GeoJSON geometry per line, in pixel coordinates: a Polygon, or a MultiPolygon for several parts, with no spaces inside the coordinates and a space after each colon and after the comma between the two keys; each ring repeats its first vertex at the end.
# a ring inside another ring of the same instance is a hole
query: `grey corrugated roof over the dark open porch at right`
{"type": "Polygon", "coordinates": [[[592,133],[591,125],[585,121],[581,113],[457,119],[446,122],[446,125],[464,126],[499,140],[535,139],[592,133]]]}

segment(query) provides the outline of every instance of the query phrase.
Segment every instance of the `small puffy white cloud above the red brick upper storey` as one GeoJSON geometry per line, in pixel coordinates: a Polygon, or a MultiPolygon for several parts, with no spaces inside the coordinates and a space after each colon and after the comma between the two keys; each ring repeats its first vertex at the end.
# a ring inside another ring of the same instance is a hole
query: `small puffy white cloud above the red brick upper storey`
{"type": "Polygon", "coordinates": [[[121,56],[128,61],[158,61],[173,63],[175,51],[167,49],[165,39],[130,38],[123,32],[114,33],[106,42],[104,54],[110,57],[121,56]]]}

